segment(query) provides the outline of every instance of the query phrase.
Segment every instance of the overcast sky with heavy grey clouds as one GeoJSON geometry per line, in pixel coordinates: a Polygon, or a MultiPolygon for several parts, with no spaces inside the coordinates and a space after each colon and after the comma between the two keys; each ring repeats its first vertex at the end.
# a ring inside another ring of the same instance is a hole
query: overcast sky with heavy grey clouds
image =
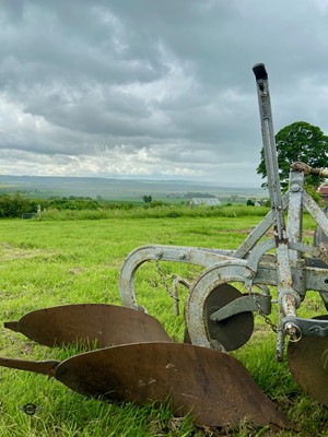
{"type": "Polygon", "coordinates": [[[328,0],[0,0],[0,174],[260,187],[258,62],[328,134],[328,0]]]}

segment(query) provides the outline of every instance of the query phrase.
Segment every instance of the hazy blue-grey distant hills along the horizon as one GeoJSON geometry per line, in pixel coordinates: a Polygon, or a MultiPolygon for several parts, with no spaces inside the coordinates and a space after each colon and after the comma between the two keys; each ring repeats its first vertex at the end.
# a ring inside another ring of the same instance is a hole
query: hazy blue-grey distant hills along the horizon
{"type": "Polygon", "coordinates": [[[213,182],[188,180],[140,180],[96,177],[0,176],[0,193],[22,192],[34,198],[91,197],[104,200],[141,200],[190,198],[212,194],[219,198],[234,196],[263,198],[261,188],[224,188],[213,182]],[[189,193],[189,196],[188,196],[189,193]]]}

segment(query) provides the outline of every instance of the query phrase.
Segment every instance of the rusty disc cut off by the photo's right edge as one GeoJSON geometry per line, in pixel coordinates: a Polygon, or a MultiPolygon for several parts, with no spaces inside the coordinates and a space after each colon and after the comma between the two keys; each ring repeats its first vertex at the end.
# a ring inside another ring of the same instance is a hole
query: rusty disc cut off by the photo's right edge
{"type": "MultiPolygon", "coordinates": [[[[315,317],[327,320],[328,316],[315,317]]],[[[328,406],[328,338],[304,335],[289,342],[288,361],[295,381],[319,403],[328,406]]]]}

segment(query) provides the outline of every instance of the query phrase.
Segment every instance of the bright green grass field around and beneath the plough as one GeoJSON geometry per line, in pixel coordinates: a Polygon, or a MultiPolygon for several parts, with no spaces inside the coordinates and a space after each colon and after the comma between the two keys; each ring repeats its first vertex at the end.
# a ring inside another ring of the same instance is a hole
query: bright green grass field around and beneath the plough
{"type": "MultiPolygon", "coordinates": [[[[106,220],[3,220],[0,222],[0,347],[1,356],[26,359],[63,359],[74,350],[36,345],[20,333],[5,330],[4,321],[55,305],[103,303],[120,305],[118,275],[125,257],[147,244],[200,246],[233,249],[260,217],[113,217],[106,220]]],[[[305,217],[311,238],[313,223],[305,217]]],[[[161,263],[167,283],[174,274],[192,281],[198,267],[161,263]]],[[[161,320],[167,332],[180,341],[183,316],[173,303],[156,265],[149,262],[138,271],[137,298],[161,320]]],[[[181,297],[184,294],[181,290],[181,297]]],[[[183,308],[181,308],[183,309],[183,308]]],[[[183,311],[180,311],[183,314],[183,311]]],[[[303,314],[326,312],[311,294],[303,314]]],[[[274,321],[276,314],[272,314],[274,321]]],[[[274,361],[274,334],[256,316],[251,340],[234,355],[297,427],[277,436],[328,436],[327,409],[304,395],[293,381],[286,363],[274,361]]],[[[0,368],[0,437],[19,436],[265,436],[268,428],[242,424],[238,429],[196,427],[178,421],[163,405],[138,408],[116,405],[84,398],[43,375],[0,368]],[[24,405],[33,403],[28,415],[24,405]]]]}

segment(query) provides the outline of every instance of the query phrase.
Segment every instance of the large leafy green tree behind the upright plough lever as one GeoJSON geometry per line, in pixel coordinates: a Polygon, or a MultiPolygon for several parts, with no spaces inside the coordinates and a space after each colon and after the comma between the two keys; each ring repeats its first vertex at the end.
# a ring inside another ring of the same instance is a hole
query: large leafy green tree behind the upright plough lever
{"type": "MultiPolygon", "coordinates": [[[[296,121],[281,129],[276,135],[278,165],[282,187],[288,184],[290,166],[296,161],[309,165],[314,168],[327,166],[328,137],[320,128],[305,121],[296,121]]],[[[257,167],[257,173],[267,176],[265,154],[261,150],[261,161],[257,167]]],[[[323,181],[318,176],[307,176],[306,185],[316,189],[323,181]]],[[[262,184],[267,186],[267,184],[262,184]]]]}

